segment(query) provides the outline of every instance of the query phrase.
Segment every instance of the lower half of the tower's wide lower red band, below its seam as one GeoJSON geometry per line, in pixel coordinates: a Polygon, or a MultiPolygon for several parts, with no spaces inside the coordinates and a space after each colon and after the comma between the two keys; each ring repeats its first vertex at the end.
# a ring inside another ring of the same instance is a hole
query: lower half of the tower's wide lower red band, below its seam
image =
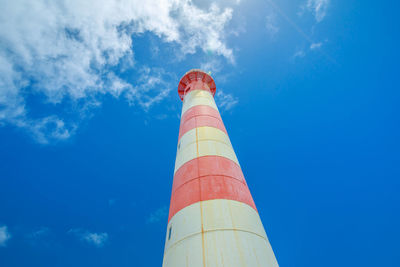
{"type": "Polygon", "coordinates": [[[183,184],[172,193],[168,221],[181,209],[212,199],[236,200],[257,210],[249,189],[241,181],[227,176],[203,176],[183,184]]]}

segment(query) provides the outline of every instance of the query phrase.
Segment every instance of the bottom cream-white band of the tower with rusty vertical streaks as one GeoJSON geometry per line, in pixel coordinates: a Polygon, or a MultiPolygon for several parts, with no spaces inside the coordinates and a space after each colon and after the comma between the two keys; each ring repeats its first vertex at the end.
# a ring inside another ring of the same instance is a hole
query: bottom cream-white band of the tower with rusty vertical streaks
{"type": "Polygon", "coordinates": [[[238,201],[215,199],[185,207],[168,223],[163,267],[184,266],[276,267],[278,263],[258,213],[238,201]]]}

